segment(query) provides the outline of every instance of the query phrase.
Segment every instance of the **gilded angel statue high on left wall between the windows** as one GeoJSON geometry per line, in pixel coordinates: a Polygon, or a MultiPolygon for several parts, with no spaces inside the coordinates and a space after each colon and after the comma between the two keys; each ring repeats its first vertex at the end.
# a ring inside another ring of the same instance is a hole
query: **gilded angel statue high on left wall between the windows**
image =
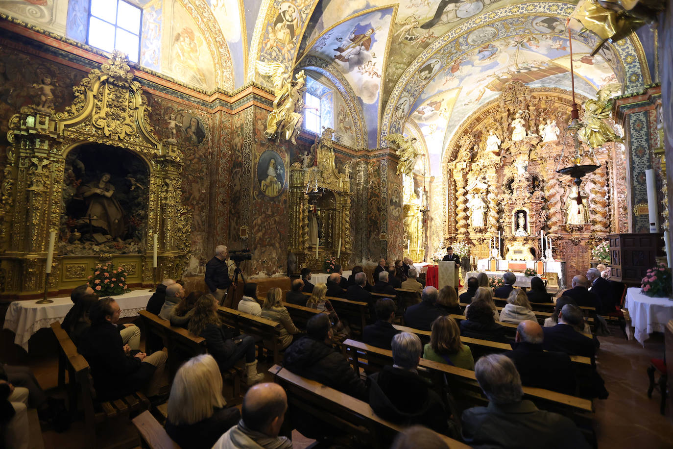
{"type": "Polygon", "coordinates": [[[269,139],[285,137],[295,145],[296,137],[304,122],[301,110],[304,108],[304,92],[306,92],[306,75],[300,71],[292,81],[290,73],[285,72],[281,63],[262,63],[257,61],[257,70],[262,75],[271,77],[276,99],[273,101],[273,111],[267,118],[267,131],[264,134],[269,139]]]}

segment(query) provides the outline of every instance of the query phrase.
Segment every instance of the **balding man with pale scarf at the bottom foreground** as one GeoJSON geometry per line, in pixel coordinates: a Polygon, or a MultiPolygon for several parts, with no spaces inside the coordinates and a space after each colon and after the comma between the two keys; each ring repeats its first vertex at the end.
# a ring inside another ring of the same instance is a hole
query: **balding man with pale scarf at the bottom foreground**
{"type": "Polygon", "coordinates": [[[246,392],[242,419],[217,440],[213,449],[292,449],[279,436],[287,411],[287,395],[279,384],[259,384],[246,392]]]}

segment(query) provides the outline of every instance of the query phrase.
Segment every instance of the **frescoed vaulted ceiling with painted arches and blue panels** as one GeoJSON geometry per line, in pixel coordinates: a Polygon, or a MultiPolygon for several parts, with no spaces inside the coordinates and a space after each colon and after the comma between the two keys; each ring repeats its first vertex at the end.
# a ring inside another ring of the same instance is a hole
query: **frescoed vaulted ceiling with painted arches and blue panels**
{"type": "MultiPolygon", "coordinates": [[[[645,28],[591,57],[597,37],[571,21],[570,61],[566,19],[577,0],[128,1],[143,8],[142,67],[206,92],[250,81],[271,88],[256,61],[309,69],[343,96],[357,147],[422,135],[427,170],[439,170],[456,127],[507,81],[568,90],[572,63],[588,97],[610,82],[625,93],[651,83],[645,28]]],[[[88,5],[0,0],[0,11],[85,42],[88,5]]]]}

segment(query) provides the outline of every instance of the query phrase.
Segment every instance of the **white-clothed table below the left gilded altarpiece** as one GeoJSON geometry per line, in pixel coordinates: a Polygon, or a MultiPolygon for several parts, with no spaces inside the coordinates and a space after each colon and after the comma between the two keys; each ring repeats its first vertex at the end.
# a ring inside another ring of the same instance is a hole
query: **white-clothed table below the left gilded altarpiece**
{"type": "MultiPolygon", "coordinates": [[[[140,310],[145,310],[151,296],[149,289],[139,289],[112,298],[119,304],[119,316],[123,318],[136,316],[140,310]]],[[[34,333],[49,327],[52,322],[62,322],[73,306],[70,296],[50,299],[53,301],[50,304],[36,304],[34,300],[14,301],[9,304],[4,329],[15,334],[14,343],[26,349],[26,352],[28,340],[34,333]]]]}

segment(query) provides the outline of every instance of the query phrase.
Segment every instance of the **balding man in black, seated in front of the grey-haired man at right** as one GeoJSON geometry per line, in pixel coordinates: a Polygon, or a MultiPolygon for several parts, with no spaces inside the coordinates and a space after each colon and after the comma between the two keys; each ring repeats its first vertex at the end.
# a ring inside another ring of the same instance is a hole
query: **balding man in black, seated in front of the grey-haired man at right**
{"type": "Polygon", "coordinates": [[[544,351],[540,324],[522,321],[516,328],[513,351],[505,353],[516,365],[524,386],[534,386],[564,394],[575,394],[575,372],[570,357],[563,352],[544,351]]]}

